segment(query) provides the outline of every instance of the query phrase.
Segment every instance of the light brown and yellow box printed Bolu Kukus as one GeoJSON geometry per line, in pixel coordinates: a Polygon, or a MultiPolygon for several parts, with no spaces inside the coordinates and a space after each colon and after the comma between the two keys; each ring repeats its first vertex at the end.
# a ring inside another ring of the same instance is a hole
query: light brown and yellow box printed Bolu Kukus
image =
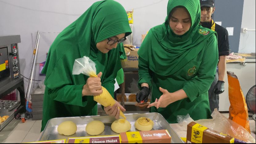
{"type": "Polygon", "coordinates": [[[135,131],[120,133],[121,143],[171,143],[167,130],[135,131]]]}

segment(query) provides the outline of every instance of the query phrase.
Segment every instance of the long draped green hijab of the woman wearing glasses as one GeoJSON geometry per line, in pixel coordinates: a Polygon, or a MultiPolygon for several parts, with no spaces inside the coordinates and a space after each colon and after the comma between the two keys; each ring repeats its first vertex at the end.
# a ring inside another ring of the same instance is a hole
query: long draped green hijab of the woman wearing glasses
{"type": "Polygon", "coordinates": [[[44,84],[50,89],[86,84],[88,76],[72,75],[72,69],[75,59],[87,56],[96,64],[97,74],[103,73],[102,85],[112,94],[112,86],[106,84],[112,83],[122,68],[124,46],[120,43],[104,54],[96,44],[121,33],[132,33],[124,7],[113,0],[95,2],[52,43],[42,70],[46,74],[44,84]]]}

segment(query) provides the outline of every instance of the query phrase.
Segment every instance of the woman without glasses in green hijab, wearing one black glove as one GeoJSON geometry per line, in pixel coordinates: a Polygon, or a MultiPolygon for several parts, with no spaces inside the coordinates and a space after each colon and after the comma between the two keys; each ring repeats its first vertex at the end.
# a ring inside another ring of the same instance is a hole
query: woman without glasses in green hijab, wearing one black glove
{"type": "Polygon", "coordinates": [[[147,101],[150,112],[169,123],[187,113],[193,120],[210,118],[208,89],[218,62],[216,33],[203,28],[199,0],[169,0],[165,23],[150,29],[139,55],[141,91],[136,101],[147,101]]]}

